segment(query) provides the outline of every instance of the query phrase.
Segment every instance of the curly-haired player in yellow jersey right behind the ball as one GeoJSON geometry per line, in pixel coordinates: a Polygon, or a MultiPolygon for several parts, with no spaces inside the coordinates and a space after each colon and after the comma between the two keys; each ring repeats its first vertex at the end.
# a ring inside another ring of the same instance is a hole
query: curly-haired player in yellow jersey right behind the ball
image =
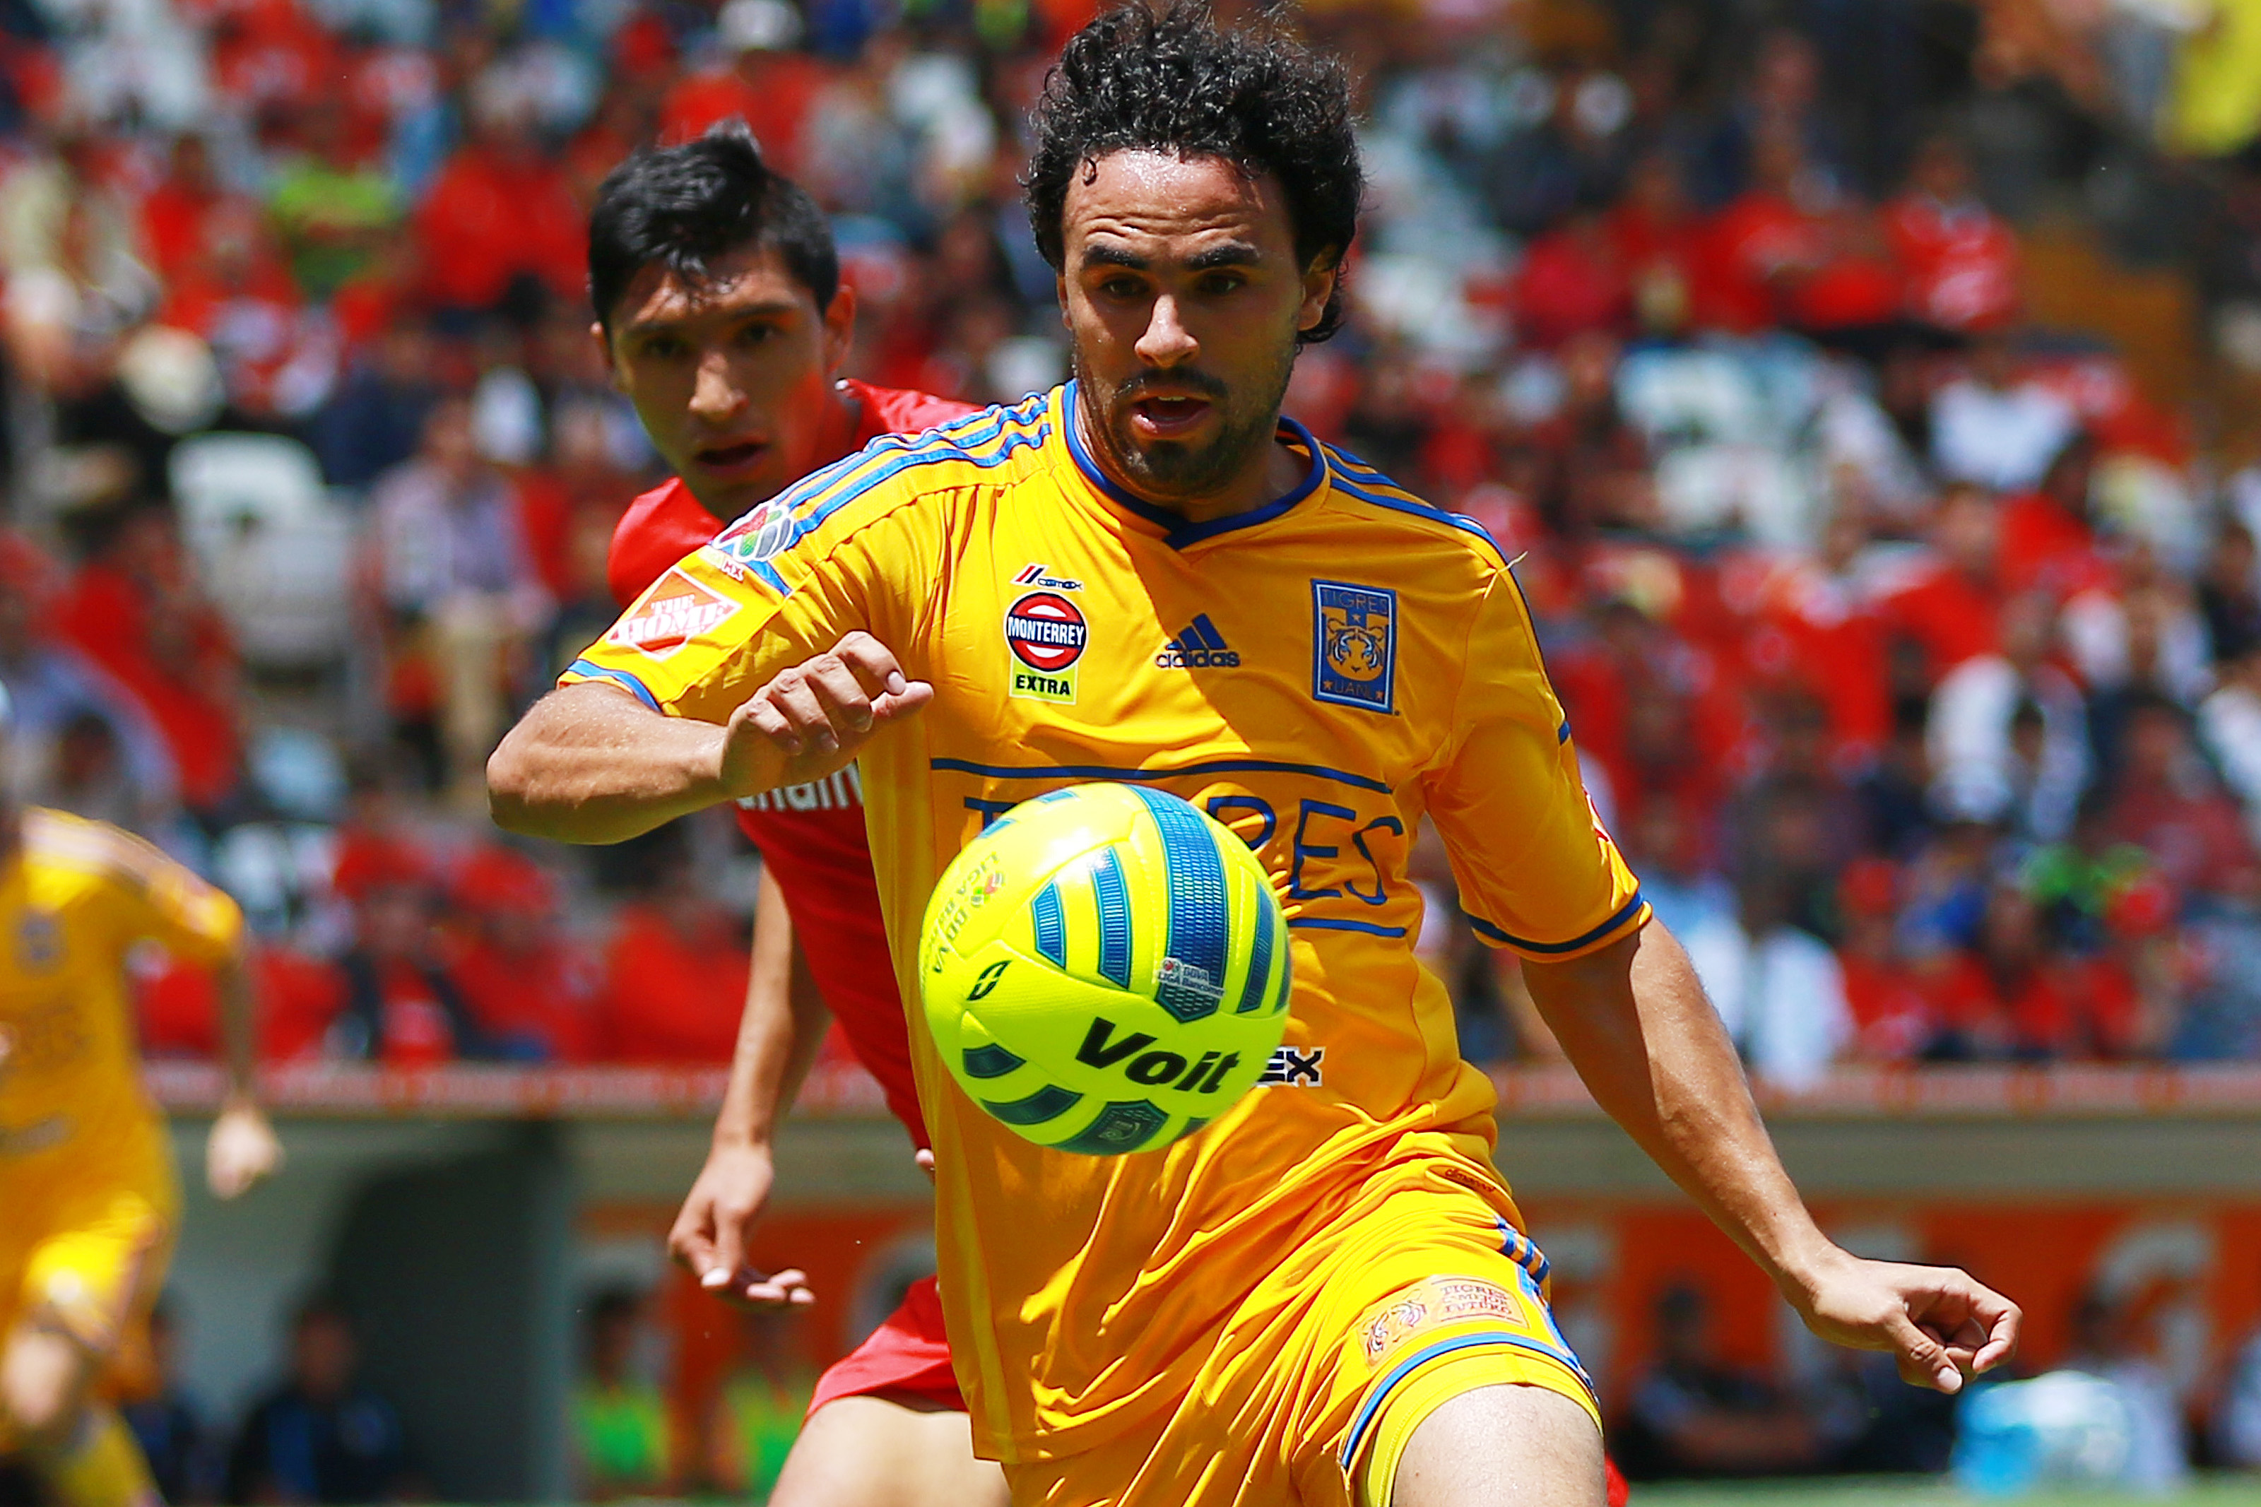
{"type": "Polygon", "coordinates": [[[2008,1356],[2008,1299],[1856,1261],[1807,1216],[1585,800],[1497,547],[1280,416],[1357,221],[1341,72],[1124,7],[1069,41],[1036,136],[1076,380],[755,508],[488,766],[504,825],[617,840],[859,755],[907,999],[934,879],[1020,800],[1137,782],[1262,854],[1287,1046],[1167,1150],[1022,1141],[913,1014],[952,1349],[1013,1500],[1601,1502],[1490,1087],[1413,960],[1422,820],[1601,1105],[1818,1333],[1949,1392],[2008,1356]]]}

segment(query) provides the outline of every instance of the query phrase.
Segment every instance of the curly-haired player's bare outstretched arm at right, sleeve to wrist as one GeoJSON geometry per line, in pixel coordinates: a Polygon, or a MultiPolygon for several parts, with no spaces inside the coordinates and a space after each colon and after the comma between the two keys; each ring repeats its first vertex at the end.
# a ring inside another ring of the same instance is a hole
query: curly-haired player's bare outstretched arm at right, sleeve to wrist
{"type": "Polygon", "coordinates": [[[1834,1247],[1782,1170],[1680,942],[1651,922],[1587,958],[1526,962],[1524,976],[1594,1103],[1777,1286],[1809,1286],[1834,1247]]]}

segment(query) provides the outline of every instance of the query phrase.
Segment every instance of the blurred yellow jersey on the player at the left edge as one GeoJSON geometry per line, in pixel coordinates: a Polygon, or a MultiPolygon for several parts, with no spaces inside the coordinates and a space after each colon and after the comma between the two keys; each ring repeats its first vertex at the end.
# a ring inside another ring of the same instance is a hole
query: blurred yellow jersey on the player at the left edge
{"type": "MultiPolygon", "coordinates": [[[[0,859],[0,1204],[77,1179],[88,1161],[165,1177],[140,1082],[127,951],[235,951],[242,913],[140,838],[61,811],[27,811],[0,859]]],[[[170,1184],[161,1184],[170,1186],[170,1184]]]]}

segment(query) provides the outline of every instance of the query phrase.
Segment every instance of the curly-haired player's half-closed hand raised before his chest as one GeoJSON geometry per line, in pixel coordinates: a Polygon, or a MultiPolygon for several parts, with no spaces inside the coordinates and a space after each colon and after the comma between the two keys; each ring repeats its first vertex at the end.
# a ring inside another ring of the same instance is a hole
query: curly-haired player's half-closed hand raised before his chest
{"type": "Polygon", "coordinates": [[[760,795],[823,779],[855,759],[873,732],[929,700],[934,687],[909,680],[886,644],[850,633],[828,653],[780,669],[730,714],[724,789],[760,795]]]}

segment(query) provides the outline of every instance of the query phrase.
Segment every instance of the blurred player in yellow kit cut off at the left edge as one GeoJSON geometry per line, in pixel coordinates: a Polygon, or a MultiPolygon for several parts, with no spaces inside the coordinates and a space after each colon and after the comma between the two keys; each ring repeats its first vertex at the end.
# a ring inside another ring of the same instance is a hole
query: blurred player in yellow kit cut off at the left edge
{"type": "MultiPolygon", "coordinates": [[[[5,752],[0,689],[0,766],[5,752]]],[[[228,1100],[206,1177],[235,1197],[280,1161],[251,1098],[242,933],[233,899],[140,838],[0,789],[0,1455],[29,1460],[63,1507],[158,1500],[102,1401],[104,1380],[147,1367],[179,1207],[127,951],[151,938],[222,972],[228,1100]]]]}

